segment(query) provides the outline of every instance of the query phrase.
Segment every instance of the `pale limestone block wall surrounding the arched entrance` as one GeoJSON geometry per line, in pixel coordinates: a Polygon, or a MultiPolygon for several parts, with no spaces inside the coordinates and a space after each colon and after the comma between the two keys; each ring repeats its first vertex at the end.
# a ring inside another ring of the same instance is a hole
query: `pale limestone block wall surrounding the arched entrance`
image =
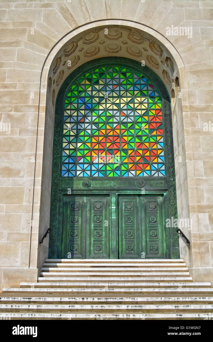
{"type": "Polygon", "coordinates": [[[0,287],[36,281],[47,257],[49,237],[38,241],[50,219],[58,89],[79,65],[111,55],[145,60],[171,95],[178,217],[192,220],[190,229],[182,228],[191,244],[180,238],[181,257],[195,280],[213,281],[212,18],[211,1],[1,0],[0,287]],[[182,27],[188,35],[180,34],[182,27]],[[122,37],[109,39],[115,30],[122,37]],[[134,32],[144,41],[137,44],[134,32]],[[98,38],[91,43],[92,34],[98,38]],[[63,66],[68,57],[70,69],[63,66]]]}

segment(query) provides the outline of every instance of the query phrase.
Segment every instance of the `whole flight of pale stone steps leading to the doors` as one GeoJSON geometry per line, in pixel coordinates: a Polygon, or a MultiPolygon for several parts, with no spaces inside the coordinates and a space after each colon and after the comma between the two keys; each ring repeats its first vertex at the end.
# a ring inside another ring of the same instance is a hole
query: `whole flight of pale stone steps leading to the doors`
{"type": "Polygon", "coordinates": [[[213,288],[183,259],[46,259],[38,282],[5,288],[0,318],[211,319],[213,288]]]}

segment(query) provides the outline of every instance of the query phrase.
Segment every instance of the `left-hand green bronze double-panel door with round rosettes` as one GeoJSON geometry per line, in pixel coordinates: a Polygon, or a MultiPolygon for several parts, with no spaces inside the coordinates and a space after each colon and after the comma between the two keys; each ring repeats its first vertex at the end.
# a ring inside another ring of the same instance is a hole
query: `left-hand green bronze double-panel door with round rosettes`
{"type": "Polygon", "coordinates": [[[64,196],[62,258],[109,258],[108,223],[108,196],[64,196]]]}

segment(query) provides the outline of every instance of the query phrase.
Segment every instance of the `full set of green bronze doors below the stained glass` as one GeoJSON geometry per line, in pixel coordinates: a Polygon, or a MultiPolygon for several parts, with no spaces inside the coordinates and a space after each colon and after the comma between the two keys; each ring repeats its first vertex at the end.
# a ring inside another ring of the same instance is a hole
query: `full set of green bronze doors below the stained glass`
{"type": "Polygon", "coordinates": [[[62,225],[62,258],[165,258],[163,195],[64,195],[62,225]]]}

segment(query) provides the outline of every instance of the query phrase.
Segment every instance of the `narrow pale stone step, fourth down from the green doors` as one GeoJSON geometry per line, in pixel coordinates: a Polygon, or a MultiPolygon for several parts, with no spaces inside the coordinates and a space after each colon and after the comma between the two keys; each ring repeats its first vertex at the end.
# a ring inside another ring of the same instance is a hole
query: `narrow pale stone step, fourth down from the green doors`
{"type": "MultiPolygon", "coordinates": [[[[63,270],[64,271],[64,270],[63,270]]],[[[58,277],[58,276],[63,276],[63,277],[189,277],[189,272],[119,272],[119,273],[114,273],[114,272],[41,272],[41,277],[58,277]]]]}

